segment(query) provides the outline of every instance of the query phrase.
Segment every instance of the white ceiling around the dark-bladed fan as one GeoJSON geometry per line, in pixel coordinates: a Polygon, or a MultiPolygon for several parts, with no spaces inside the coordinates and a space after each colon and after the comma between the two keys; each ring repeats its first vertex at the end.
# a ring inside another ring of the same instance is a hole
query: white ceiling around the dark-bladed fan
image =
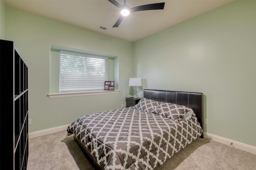
{"type": "MultiPolygon", "coordinates": [[[[124,4],[123,0],[116,1],[124,4]]],[[[164,10],[134,12],[126,16],[119,27],[112,28],[120,16],[120,9],[108,0],[4,0],[6,6],[132,42],[231,1],[126,0],[130,8],[159,2],[165,2],[165,6],[164,10]],[[110,30],[101,30],[100,25],[110,30]]]]}

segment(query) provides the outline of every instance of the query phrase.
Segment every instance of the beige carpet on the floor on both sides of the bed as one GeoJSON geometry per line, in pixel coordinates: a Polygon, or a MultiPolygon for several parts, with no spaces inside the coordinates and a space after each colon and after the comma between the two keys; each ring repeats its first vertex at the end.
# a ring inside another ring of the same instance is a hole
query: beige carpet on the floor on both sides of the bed
{"type": "MultiPolygon", "coordinates": [[[[27,170],[93,170],[66,131],[29,139],[27,170]]],[[[196,139],[155,170],[256,170],[256,155],[209,139],[196,139]]]]}

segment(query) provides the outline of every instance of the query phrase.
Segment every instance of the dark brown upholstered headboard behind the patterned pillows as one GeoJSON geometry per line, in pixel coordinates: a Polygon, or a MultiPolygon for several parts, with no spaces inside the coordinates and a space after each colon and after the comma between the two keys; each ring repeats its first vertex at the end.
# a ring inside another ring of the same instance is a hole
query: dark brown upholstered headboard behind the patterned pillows
{"type": "Polygon", "coordinates": [[[203,128],[204,115],[202,93],[144,89],[144,98],[190,107],[194,110],[198,122],[203,128]]]}

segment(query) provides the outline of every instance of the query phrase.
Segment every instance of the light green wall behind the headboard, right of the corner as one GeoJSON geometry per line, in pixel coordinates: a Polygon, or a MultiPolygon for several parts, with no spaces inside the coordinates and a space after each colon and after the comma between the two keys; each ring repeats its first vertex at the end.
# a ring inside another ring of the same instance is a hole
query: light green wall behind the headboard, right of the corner
{"type": "Polygon", "coordinates": [[[256,1],[234,1],[134,43],[144,88],[204,93],[208,133],[256,146],[256,1]]]}

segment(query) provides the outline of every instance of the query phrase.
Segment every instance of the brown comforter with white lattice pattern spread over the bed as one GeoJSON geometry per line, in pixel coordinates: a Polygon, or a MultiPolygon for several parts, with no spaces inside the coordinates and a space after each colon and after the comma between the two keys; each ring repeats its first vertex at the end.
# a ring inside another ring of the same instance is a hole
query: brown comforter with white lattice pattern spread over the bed
{"type": "Polygon", "coordinates": [[[202,134],[194,115],[174,120],[136,107],[84,115],[68,131],[105,170],[152,170],[202,134]]]}

